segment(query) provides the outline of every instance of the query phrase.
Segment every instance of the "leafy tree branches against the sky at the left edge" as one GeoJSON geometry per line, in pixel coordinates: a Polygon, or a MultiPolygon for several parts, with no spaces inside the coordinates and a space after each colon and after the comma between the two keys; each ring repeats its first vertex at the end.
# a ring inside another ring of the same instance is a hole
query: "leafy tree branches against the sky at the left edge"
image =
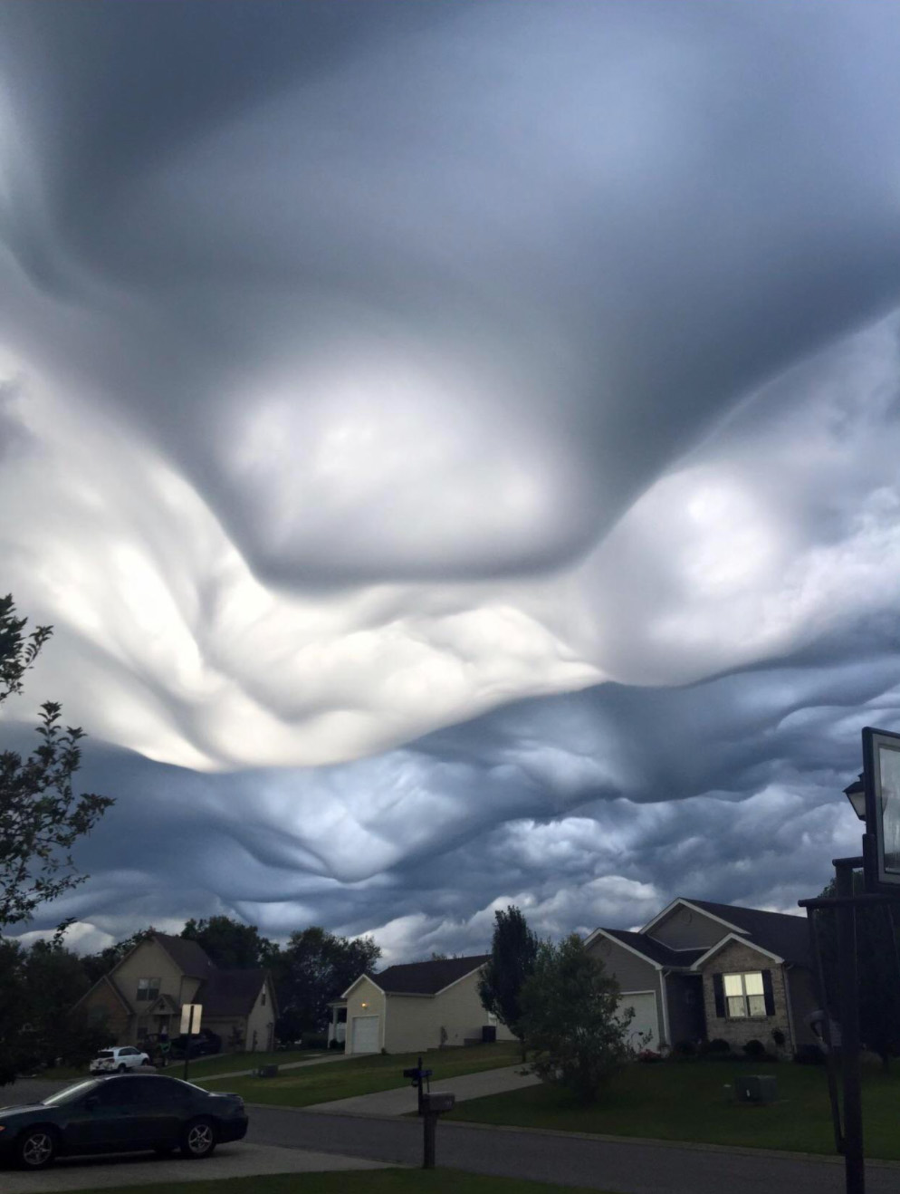
{"type": "MultiPolygon", "coordinates": [[[[53,633],[16,616],[11,595],[0,597],[0,704],[23,690],[23,677],[53,633]]],[[[84,732],[61,725],[61,706],[41,707],[39,745],[26,758],[0,753],[0,928],[26,921],[38,906],[84,882],[72,848],[113,804],[109,796],[76,796],[73,777],[84,732]]]]}

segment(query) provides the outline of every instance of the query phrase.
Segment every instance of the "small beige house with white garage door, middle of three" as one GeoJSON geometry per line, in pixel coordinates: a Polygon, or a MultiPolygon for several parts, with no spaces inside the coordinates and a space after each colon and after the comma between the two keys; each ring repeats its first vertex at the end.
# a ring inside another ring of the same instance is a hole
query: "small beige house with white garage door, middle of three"
{"type": "Polygon", "coordinates": [[[328,1039],[344,1035],[347,1053],[413,1053],[494,1038],[513,1040],[479,998],[477,981],[488,958],[442,958],[360,974],[332,1003],[328,1039]]]}

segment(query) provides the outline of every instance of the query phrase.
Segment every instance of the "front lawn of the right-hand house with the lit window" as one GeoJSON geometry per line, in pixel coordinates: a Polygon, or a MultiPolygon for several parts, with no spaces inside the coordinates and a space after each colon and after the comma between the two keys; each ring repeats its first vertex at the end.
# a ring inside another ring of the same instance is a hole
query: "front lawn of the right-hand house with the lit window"
{"type": "MultiPolygon", "coordinates": [[[[886,1076],[880,1066],[864,1067],[863,1115],[867,1156],[900,1159],[900,1069],[886,1076]]],[[[752,1066],[726,1061],[631,1065],[593,1106],[575,1106],[550,1087],[531,1087],[464,1102],[450,1118],[566,1132],[834,1152],[825,1069],[790,1061],[752,1066]],[[736,1103],[725,1085],[747,1072],[775,1075],[777,1102],[736,1103]]]]}

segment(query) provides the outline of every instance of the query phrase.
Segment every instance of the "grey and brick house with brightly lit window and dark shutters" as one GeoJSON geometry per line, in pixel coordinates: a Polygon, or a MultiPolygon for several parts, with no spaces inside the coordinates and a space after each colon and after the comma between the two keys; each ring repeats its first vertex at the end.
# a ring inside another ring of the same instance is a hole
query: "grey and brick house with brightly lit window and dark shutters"
{"type": "Polygon", "coordinates": [[[807,1016],[819,1004],[803,916],[676,899],[636,933],[594,929],[586,946],[634,1008],[633,1045],[652,1050],[721,1039],[785,1048],[815,1040],[807,1016]]]}

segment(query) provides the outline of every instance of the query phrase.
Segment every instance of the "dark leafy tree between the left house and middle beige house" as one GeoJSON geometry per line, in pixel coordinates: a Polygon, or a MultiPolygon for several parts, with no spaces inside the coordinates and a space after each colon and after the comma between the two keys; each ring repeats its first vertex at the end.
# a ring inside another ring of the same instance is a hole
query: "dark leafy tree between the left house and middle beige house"
{"type": "Polygon", "coordinates": [[[329,1001],[371,972],[380,958],[372,937],[337,937],[318,927],[292,933],[273,966],[278,1036],[298,1040],[303,1033],[325,1032],[329,1001]]]}

